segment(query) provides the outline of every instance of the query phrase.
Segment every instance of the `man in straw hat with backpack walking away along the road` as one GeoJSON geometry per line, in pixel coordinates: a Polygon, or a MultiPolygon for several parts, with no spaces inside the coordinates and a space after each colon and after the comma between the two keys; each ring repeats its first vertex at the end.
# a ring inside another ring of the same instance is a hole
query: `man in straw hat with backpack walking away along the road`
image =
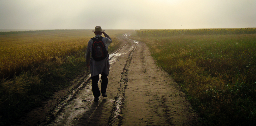
{"type": "Polygon", "coordinates": [[[90,67],[92,78],[92,93],[94,95],[94,101],[98,101],[100,97],[100,90],[98,87],[99,74],[101,74],[101,93],[103,97],[107,97],[107,83],[109,74],[109,55],[107,53],[108,46],[112,43],[111,38],[107,35],[105,30],[102,30],[100,26],[96,26],[94,32],[95,37],[91,38],[87,45],[86,50],[86,66],[90,67]],[[105,37],[102,37],[102,33],[105,37]]]}

